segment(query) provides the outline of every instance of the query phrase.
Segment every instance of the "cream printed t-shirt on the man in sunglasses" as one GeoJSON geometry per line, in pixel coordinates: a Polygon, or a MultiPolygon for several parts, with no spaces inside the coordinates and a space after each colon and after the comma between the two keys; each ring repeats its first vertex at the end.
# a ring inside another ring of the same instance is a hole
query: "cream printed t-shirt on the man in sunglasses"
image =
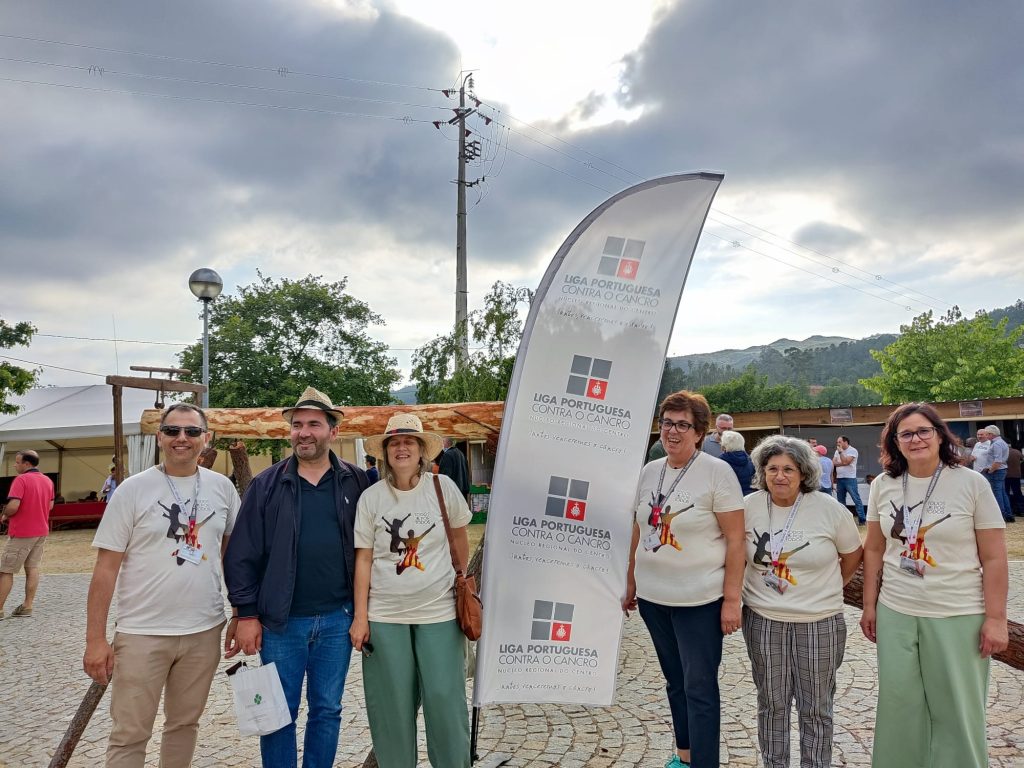
{"type": "Polygon", "coordinates": [[[224,621],[220,545],[234,527],[239,494],[231,481],[200,468],[196,477],[170,477],[151,467],[118,486],[92,546],[123,552],[118,574],[117,630],[129,635],[188,635],[224,621]],[[178,505],[168,480],[178,490],[178,505]],[[199,564],[177,557],[196,513],[199,564]]]}

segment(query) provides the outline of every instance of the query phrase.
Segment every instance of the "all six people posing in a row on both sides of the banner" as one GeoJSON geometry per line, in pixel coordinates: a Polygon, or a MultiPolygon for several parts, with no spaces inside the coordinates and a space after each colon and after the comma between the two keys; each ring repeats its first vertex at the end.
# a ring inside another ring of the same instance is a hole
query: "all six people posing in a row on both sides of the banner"
{"type": "MultiPolygon", "coordinates": [[[[160,764],[188,766],[221,654],[241,652],[274,663],[291,711],[290,725],[260,737],[263,765],[298,763],[304,682],[302,765],[332,766],[354,649],[379,765],[417,764],[422,707],[430,764],[468,767],[453,584],[469,559],[471,514],[464,490],[431,471],[441,438],[415,416],[393,416],[366,441],[380,472],[370,484],[330,449],[343,414],[327,395],[309,388],[283,414],[292,455],[244,500],[198,467],[206,416],[184,403],[162,414],[163,462],[112,498],[93,542],[83,660],[95,681],[113,681],[106,765],[144,764],[163,694],[160,764]]],[[[701,451],[702,396],[676,392],[658,416],[666,456],[637,483],[623,607],[639,609],[666,678],[676,746],[667,766],[719,765],[718,672],[723,637],[736,631],[764,764],[790,765],[794,702],[801,765],[830,764],[843,587],[862,559],[861,630],[879,654],[872,765],[985,765],[989,657],[1007,645],[1004,522],[935,411],[903,406],[887,422],[863,546],[854,518],[820,493],[807,442],[761,441],[744,495],[728,437],[726,461],[701,451]]]]}

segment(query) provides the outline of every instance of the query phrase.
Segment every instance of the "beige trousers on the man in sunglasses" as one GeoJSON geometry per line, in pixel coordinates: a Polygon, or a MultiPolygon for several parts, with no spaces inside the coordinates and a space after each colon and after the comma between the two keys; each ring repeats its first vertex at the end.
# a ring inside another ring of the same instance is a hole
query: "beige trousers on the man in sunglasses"
{"type": "Polygon", "coordinates": [[[188,768],[220,660],[219,624],[191,635],[114,636],[108,768],[142,768],[164,691],[161,768],[188,768]]]}

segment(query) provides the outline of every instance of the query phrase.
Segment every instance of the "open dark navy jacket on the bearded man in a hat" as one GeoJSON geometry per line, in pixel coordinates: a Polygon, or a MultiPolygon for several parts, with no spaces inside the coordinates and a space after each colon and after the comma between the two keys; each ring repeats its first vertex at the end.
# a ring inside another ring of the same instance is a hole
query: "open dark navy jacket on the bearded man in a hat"
{"type": "MultiPolygon", "coordinates": [[[[354,584],[355,503],[369,483],[361,469],[334,452],[330,457],[345,565],[349,584],[354,584]]],[[[253,478],[224,554],[227,599],[240,616],[259,616],[267,629],[275,631],[285,629],[295,589],[301,520],[297,467],[290,457],[253,478]]]]}

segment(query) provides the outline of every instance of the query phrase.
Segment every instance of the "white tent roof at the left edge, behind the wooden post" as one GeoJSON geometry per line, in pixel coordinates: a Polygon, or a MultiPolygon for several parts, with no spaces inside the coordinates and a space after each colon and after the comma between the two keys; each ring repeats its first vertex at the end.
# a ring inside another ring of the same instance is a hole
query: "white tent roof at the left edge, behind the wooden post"
{"type": "MultiPolygon", "coordinates": [[[[143,389],[124,389],[126,435],[139,433],[142,412],[153,408],[155,395],[143,389]]],[[[31,389],[8,402],[18,411],[0,415],[0,442],[114,436],[114,393],[108,384],[31,389]]]]}

